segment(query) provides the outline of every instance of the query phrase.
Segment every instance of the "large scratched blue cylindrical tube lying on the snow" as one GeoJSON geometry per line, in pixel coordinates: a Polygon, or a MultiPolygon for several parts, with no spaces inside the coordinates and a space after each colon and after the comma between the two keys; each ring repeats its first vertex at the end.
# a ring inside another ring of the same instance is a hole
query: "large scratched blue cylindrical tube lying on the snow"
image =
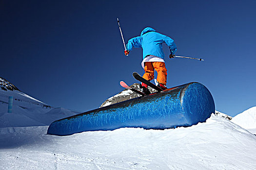
{"type": "Polygon", "coordinates": [[[54,121],[47,134],[72,135],[122,127],[166,129],[204,122],[215,112],[210,91],[189,83],[54,121]]]}

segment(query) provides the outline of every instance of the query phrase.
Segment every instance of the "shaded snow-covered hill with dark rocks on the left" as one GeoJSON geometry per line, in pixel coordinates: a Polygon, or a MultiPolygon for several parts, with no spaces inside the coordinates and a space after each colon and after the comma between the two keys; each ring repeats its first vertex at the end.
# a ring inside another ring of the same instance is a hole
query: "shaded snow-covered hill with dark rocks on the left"
{"type": "Polygon", "coordinates": [[[0,128],[45,126],[78,112],[55,108],[23,92],[7,80],[0,78],[0,128]],[[13,97],[12,113],[7,113],[9,96],[13,97]]]}

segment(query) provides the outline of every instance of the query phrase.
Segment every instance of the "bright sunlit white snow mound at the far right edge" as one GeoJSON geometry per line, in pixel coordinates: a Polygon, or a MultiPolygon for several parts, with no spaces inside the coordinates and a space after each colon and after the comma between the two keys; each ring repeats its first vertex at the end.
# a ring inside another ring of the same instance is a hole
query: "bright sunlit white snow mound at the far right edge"
{"type": "Polygon", "coordinates": [[[256,129],[256,106],[236,115],[231,121],[245,129],[256,129]]]}

